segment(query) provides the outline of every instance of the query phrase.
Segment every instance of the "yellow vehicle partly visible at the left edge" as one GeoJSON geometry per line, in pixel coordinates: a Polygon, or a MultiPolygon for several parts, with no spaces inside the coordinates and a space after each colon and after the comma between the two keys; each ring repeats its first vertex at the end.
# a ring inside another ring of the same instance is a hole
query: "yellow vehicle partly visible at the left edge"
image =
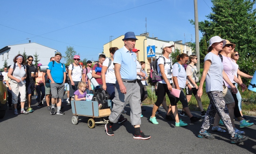
{"type": "Polygon", "coordinates": [[[4,117],[7,109],[7,88],[3,83],[3,76],[0,75],[0,119],[4,117]]]}

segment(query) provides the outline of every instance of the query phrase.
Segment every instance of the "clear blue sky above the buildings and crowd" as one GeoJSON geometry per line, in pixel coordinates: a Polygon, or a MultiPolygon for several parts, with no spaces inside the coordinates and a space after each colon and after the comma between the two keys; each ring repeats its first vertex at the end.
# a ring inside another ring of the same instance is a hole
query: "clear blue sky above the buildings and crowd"
{"type": "MultiPolygon", "coordinates": [[[[113,40],[129,31],[183,42],[192,35],[195,42],[194,25],[188,21],[194,20],[194,0],[5,0],[1,6],[0,49],[29,38],[63,55],[70,45],[81,59],[97,60],[110,36],[113,40]]],[[[199,21],[207,19],[209,7],[211,0],[198,0],[199,21]]]]}

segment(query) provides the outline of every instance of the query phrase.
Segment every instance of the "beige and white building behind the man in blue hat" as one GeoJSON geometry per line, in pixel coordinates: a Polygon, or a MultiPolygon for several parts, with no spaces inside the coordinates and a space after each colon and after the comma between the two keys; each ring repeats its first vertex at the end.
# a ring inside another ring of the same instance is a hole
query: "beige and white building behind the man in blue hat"
{"type": "MultiPolygon", "coordinates": [[[[118,49],[120,49],[124,46],[124,41],[122,40],[123,38],[124,38],[124,35],[119,36],[118,38],[112,40],[111,42],[108,42],[103,45],[103,50],[106,57],[110,57],[110,53],[109,53],[110,47],[118,47],[118,49]]],[[[193,52],[191,50],[191,47],[186,43],[183,44],[182,41],[164,41],[164,40],[158,39],[157,37],[155,38],[149,37],[149,33],[140,34],[139,36],[136,36],[136,38],[138,40],[136,41],[135,47],[136,49],[140,50],[138,58],[140,61],[145,61],[146,63],[145,70],[150,69],[150,63],[152,62],[151,57],[147,57],[147,46],[155,45],[156,56],[162,55],[163,43],[174,44],[173,51],[178,49],[182,53],[186,53],[187,55],[191,55],[193,52]]],[[[153,60],[155,60],[155,57],[153,57],[153,60]]]]}

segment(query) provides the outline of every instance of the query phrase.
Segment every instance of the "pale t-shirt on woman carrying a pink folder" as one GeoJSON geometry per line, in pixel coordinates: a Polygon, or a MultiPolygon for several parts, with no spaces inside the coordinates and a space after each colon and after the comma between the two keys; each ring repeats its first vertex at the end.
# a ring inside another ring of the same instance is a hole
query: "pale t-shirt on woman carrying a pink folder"
{"type": "Polygon", "coordinates": [[[184,66],[179,63],[174,63],[173,68],[172,68],[172,76],[177,77],[180,88],[184,89],[186,86],[186,80],[187,80],[187,73],[184,69],[184,66]],[[179,65],[180,65],[180,67],[179,67],[179,65]],[[180,72],[179,72],[179,70],[180,70],[180,72]]]}

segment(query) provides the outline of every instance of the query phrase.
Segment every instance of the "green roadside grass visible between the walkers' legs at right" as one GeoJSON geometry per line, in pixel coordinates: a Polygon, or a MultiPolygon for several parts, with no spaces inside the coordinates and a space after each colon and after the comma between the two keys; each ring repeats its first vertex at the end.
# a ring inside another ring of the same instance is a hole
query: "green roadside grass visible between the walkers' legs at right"
{"type": "MultiPolygon", "coordinates": [[[[247,113],[248,111],[254,111],[256,112],[256,93],[250,90],[245,90],[242,92],[241,88],[238,87],[238,90],[240,91],[240,94],[242,96],[242,111],[243,113],[247,113]]],[[[185,91],[184,91],[185,93],[185,91]]],[[[143,104],[145,105],[150,105],[154,104],[157,100],[157,96],[155,95],[155,91],[152,92],[152,87],[148,86],[147,87],[147,95],[148,97],[143,101],[143,104]]],[[[170,100],[168,96],[166,95],[166,104],[167,106],[170,104],[170,100]]],[[[209,105],[209,98],[207,93],[205,92],[205,83],[203,86],[203,95],[201,97],[203,109],[207,110],[208,105],[209,105]]],[[[200,111],[197,105],[196,98],[194,96],[191,97],[191,100],[188,102],[189,109],[191,111],[200,111]]],[[[182,109],[182,104],[179,101],[177,104],[178,109],[182,109]]]]}

